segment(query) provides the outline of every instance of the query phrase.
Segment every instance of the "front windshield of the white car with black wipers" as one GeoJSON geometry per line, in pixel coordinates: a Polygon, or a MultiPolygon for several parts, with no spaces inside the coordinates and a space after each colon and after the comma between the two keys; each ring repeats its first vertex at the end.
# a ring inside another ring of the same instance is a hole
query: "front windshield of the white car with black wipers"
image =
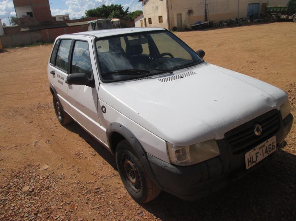
{"type": "Polygon", "coordinates": [[[110,36],[96,41],[103,82],[171,72],[203,61],[169,31],[110,36]]]}

